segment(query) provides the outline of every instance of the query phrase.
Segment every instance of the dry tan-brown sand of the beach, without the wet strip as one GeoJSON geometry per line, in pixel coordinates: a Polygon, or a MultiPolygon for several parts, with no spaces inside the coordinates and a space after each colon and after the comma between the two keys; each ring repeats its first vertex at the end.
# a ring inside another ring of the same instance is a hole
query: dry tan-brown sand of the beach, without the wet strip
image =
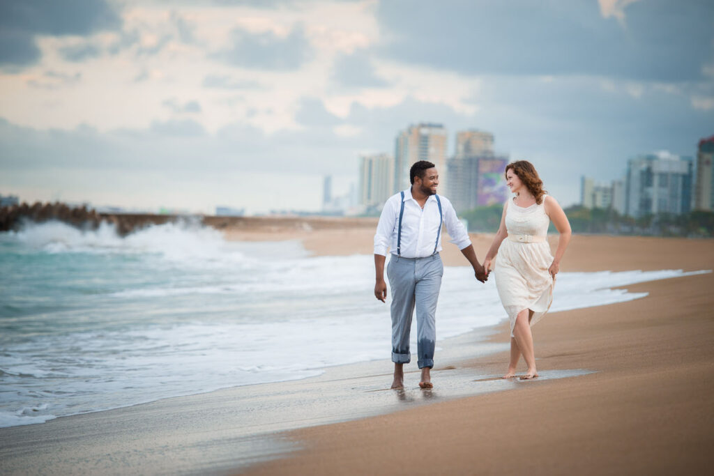
{"type": "MultiPolygon", "coordinates": [[[[370,235],[351,230],[345,238],[369,253],[363,243],[370,235]]],[[[491,237],[472,238],[483,259],[491,237]]],[[[461,259],[458,250],[443,255],[453,265],[461,259]]],[[[633,269],[714,269],[714,241],[574,236],[562,265],[564,271],[633,269]]],[[[551,313],[534,328],[539,370],[596,373],[296,430],[287,436],[301,442],[302,452],[248,474],[709,473],[714,274],[628,290],[649,295],[551,313]]],[[[508,342],[507,325],[492,339],[508,342]]],[[[498,374],[507,363],[507,353],[498,353],[461,367],[498,374]]]]}

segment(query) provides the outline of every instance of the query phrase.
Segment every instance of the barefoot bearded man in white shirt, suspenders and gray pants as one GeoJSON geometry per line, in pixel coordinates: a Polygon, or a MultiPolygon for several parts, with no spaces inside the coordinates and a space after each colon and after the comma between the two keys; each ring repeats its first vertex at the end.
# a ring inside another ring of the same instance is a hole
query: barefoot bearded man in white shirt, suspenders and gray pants
{"type": "Polygon", "coordinates": [[[436,195],[439,176],[433,163],[418,161],[409,171],[411,187],[388,198],[374,236],[374,295],[386,302],[384,261],[387,249],[391,258],[387,277],[392,289],[392,388],[404,387],[403,365],[411,361],[409,333],[416,306],[418,366],[421,388],[432,388],[430,370],[436,344],[436,300],[441,288],[443,264],[441,225],[473,266],[476,279],[485,283],[488,273],[478,262],[476,252],[447,198],[436,195]]]}

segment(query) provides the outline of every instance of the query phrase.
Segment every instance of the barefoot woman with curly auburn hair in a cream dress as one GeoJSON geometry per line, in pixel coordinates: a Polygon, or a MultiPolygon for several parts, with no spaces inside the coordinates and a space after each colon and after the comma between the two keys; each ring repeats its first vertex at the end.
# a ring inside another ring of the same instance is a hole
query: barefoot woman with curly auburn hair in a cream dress
{"type": "Polygon", "coordinates": [[[516,196],[503,206],[501,226],[483,267],[491,269],[496,256],[496,288],[511,320],[511,363],[503,378],[516,376],[523,355],[528,372],[521,379],[526,380],[538,377],[531,326],[543,318],[553,302],[555,275],[570,241],[570,223],[555,198],[545,194],[532,163],[509,163],[506,184],[516,196]],[[550,221],[560,233],[555,258],[545,239],[550,221]]]}

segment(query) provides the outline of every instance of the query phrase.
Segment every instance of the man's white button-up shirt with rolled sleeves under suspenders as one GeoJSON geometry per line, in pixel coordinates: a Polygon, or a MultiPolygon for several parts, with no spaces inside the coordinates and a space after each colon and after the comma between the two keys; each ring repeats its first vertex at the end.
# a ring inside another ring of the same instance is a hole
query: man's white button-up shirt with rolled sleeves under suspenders
{"type": "MultiPolygon", "coordinates": [[[[456,211],[448,198],[439,196],[441,200],[441,216],[446,225],[446,231],[458,249],[463,250],[471,245],[468,232],[463,223],[458,221],[456,211]]],[[[387,250],[397,254],[397,235],[399,230],[399,211],[401,209],[401,193],[389,197],[382,208],[379,217],[377,233],[374,235],[374,254],[387,255],[387,250]]],[[[438,233],[439,207],[435,196],[429,196],[424,208],[411,196],[411,187],[404,191],[404,214],[402,216],[401,255],[404,258],[426,258],[436,251],[441,251],[441,234],[438,233]],[[438,243],[436,237],[438,235],[438,243]]]]}

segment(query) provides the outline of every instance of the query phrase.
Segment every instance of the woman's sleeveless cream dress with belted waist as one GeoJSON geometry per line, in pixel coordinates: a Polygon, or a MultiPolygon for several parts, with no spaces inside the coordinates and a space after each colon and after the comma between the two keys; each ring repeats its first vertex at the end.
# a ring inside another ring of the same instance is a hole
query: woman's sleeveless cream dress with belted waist
{"type": "Polygon", "coordinates": [[[523,208],[508,200],[506,229],[496,255],[496,289],[511,320],[511,337],[516,316],[524,309],[533,310],[531,327],[543,318],[553,302],[555,280],[548,273],[553,263],[548,235],[550,218],[543,201],[523,208]]]}

